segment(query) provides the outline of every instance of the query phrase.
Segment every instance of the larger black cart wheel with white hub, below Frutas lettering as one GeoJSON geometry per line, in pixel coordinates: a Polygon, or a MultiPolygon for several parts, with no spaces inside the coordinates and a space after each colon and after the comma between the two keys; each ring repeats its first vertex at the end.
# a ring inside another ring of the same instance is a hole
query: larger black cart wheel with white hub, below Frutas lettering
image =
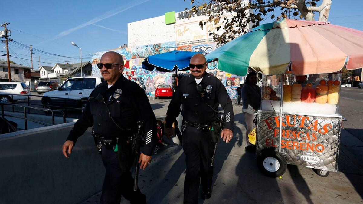
{"type": "Polygon", "coordinates": [[[287,161],[280,152],[266,149],[257,156],[257,166],[262,174],[276,178],[285,173],[287,161]]]}

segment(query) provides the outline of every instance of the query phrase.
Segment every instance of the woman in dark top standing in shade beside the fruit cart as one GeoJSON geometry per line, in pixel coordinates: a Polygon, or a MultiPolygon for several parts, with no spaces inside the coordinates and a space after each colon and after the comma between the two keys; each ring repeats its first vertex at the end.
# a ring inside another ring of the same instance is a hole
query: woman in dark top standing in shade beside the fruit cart
{"type": "Polygon", "coordinates": [[[257,86],[256,72],[248,73],[245,83],[241,89],[242,111],[246,122],[246,151],[255,152],[255,147],[248,142],[248,134],[253,130],[255,123],[254,112],[261,106],[261,90],[257,86]]]}

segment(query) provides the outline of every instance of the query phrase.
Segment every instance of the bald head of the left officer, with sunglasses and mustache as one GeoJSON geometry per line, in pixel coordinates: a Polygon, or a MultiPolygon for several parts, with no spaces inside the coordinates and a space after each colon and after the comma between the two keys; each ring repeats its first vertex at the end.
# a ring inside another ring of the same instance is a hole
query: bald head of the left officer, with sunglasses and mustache
{"type": "Polygon", "coordinates": [[[102,64],[121,64],[112,65],[110,69],[106,69],[105,66],[100,69],[102,77],[110,84],[113,84],[122,74],[123,58],[121,54],[117,52],[106,52],[102,55],[100,63],[102,64]]]}

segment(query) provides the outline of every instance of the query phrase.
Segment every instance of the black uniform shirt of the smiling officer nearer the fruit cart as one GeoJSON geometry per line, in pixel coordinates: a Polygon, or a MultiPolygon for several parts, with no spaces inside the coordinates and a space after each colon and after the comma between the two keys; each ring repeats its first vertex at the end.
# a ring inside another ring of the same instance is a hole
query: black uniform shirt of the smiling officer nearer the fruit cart
{"type": "Polygon", "coordinates": [[[218,113],[208,107],[205,104],[207,102],[215,110],[218,110],[218,106],[221,104],[224,110],[224,128],[233,130],[232,101],[222,82],[213,75],[206,73],[199,85],[203,86],[204,101],[196,89],[197,83],[193,75],[190,74],[180,80],[168,107],[166,127],[172,127],[172,123],[180,113],[180,104],[183,104],[181,115],[183,115],[184,120],[200,124],[216,121],[218,113]]]}

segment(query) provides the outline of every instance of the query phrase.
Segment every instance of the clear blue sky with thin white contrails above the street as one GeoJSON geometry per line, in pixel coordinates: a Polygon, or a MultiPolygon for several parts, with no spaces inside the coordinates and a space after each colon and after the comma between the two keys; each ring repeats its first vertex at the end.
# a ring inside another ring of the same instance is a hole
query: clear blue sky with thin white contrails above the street
{"type": "MultiPolygon", "coordinates": [[[[117,48],[127,43],[127,23],[162,16],[168,11],[183,11],[191,8],[186,0],[62,0],[62,1],[29,1],[3,0],[0,23],[7,21],[12,30],[13,40],[33,48],[61,56],[77,57],[79,49],[71,45],[75,42],[82,48],[82,61],[89,61],[90,54],[117,48]]],[[[318,2],[319,5],[319,2],[318,2]]],[[[363,30],[361,0],[334,0],[328,21],[363,30]],[[349,2],[349,3],[348,3],[349,2]]],[[[266,19],[266,23],[271,20],[266,19]]],[[[0,55],[5,54],[1,44],[0,55]]],[[[30,65],[29,50],[9,44],[10,59],[18,64],[30,65]],[[14,54],[16,53],[16,54],[14,54]]],[[[33,51],[33,67],[38,67],[38,56],[41,65],[51,66],[56,62],[79,62],[79,59],[61,56],[50,56],[33,51]]],[[[0,56],[6,60],[6,57],[0,56]]]]}

